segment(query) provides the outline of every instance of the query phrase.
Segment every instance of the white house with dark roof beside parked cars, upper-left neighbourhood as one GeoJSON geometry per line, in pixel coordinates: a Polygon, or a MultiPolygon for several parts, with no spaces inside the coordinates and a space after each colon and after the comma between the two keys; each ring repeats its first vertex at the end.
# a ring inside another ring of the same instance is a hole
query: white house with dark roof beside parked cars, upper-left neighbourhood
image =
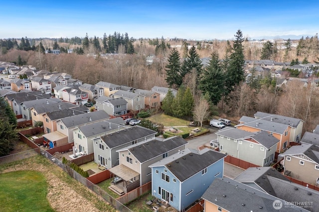
{"type": "Polygon", "coordinates": [[[88,102],[89,96],[80,89],[65,88],[62,90],[62,99],[75,105],[84,105],[88,102]]]}

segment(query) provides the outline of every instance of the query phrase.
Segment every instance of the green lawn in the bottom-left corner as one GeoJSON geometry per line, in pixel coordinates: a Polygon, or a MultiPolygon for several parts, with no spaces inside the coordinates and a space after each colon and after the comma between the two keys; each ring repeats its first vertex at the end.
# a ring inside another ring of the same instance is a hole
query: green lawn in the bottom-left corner
{"type": "Polygon", "coordinates": [[[40,172],[0,174],[0,205],[3,212],[54,212],[46,195],[47,183],[40,172]]]}

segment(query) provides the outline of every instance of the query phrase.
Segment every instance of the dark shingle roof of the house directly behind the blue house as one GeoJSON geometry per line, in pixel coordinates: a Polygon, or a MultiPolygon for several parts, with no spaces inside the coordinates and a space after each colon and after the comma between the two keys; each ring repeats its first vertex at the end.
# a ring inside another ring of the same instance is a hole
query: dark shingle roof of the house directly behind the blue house
{"type": "MultiPolygon", "coordinates": [[[[185,145],[187,141],[180,136],[169,137],[165,140],[155,138],[147,142],[139,142],[121,150],[128,149],[141,163],[164,154],[172,149],[185,145]]],[[[184,148],[183,148],[184,149],[184,148]]]]}

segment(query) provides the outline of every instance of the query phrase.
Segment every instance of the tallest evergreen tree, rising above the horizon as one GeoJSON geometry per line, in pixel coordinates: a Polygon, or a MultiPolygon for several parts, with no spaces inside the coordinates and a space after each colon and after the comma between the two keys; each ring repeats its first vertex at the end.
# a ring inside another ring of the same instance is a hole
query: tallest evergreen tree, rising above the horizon
{"type": "Polygon", "coordinates": [[[244,81],[244,49],[243,43],[244,38],[240,29],[235,34],[235,40],[233,41],[232,52],[229,57],[229,64],[226,73],[225,87],[227,93],[233,91],[236,85],[239,85],[244,81]]]}

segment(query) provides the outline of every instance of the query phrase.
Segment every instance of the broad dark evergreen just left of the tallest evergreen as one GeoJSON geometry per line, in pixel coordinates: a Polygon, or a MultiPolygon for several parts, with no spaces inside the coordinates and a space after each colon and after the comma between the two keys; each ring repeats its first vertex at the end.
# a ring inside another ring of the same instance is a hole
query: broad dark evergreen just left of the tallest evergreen
{"type": "Polygon", "coordinates": [[[218,53],[211,54],[208,66],[204,69],[199,80],[199,89],[203,94],[208,94],[209,101],[217,105],[224,94],[225,78],[222,71],[218,53]]]}

